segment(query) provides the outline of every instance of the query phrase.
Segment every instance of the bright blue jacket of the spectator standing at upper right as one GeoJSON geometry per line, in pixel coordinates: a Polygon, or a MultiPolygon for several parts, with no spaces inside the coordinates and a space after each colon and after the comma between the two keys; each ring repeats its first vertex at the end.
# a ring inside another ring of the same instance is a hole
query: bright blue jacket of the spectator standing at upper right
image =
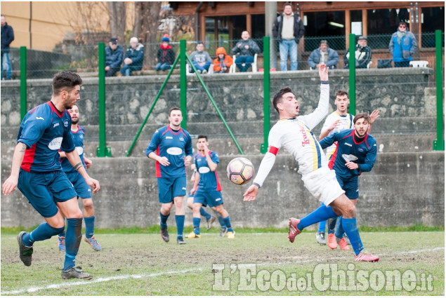
{"type": "Polygon", "coordinates": [[[402,32],[402,36],[398,35],[398,32],[392,34],[391,41],[388,43],[388,50],[393,55],[393,62],[412,61],[412,54],[417,50],[417,39],[407,29],[402,32]],[[398,42],[399,37],[400,41],[398,42]]]}

